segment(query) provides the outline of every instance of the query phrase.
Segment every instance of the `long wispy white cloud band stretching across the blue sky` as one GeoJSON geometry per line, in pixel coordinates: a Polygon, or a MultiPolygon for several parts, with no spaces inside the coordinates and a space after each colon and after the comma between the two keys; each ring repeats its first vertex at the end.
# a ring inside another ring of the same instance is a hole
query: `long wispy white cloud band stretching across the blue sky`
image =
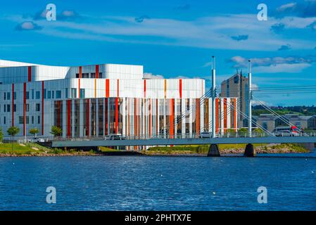
{"type": "MultiPolygon", "coordinates": [[[[17,22],[23,20],[19,16],[11,16],[8,19],[17,22]]],[[[230,14],[196,18],[195,20],[151,18],[151,20],[146,20],[146,23],[137,23],[134,17],[122,16],[90,17],[80,21],[80,23],[63,20],[57,20],[54,23],[39,20],[38,23],[45,27],[45,29],[39,31],[42,34],[99,41],[125,41],[142,44],[250,51],[274,51],[284,44],[290,44],[292,49],[310,49],[310,46],[315,45],[313,41],[303,37],[300,39],[284,39],[284,37],[273,34],[270,27],[275,23],[283,23],[282,20],[270,18],[267,22],[262,23],[257,20],[255,14],[230,14]],[[245,41],[234,41],[231,38],[239,34],[248,35],[249,38],[245,41]]],[[[284,24],[291,24],[288,20],[288,18],[284,18],[284,24]]],[[[297,24],[301,23],[299,21],[297,24]]],[[[306,24],[310,24],[310,21],[306,24]]]]}

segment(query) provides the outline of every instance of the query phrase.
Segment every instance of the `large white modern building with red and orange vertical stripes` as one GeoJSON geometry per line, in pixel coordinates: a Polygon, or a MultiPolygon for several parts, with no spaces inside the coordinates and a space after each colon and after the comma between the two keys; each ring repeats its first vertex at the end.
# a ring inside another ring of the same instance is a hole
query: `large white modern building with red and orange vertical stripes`
{"type": "MultiPolygon", "coordinates": [[[[144,79],[141,65],[36,65],[0,60],[0,127],[4,134],[49,137],[155,136],[211,131],[204,79],[144,79]]],[[[216,130],[236,129],[236,98],[217,98],[216,130]]]]}

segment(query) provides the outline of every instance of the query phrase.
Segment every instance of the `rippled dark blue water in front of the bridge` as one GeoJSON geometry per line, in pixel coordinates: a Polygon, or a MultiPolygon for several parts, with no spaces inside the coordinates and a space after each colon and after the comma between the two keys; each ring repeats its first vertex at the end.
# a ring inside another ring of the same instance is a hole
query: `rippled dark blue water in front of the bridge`
{"type": "Polygon", "coordinates": [[[300,156],[0,158],[0,210],[316,210],[316,154],[300,156]]]}

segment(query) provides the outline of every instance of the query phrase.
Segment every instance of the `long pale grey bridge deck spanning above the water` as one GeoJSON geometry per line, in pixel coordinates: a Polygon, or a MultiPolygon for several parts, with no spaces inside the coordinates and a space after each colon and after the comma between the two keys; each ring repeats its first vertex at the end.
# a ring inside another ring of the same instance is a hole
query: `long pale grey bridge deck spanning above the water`
{"type": "Polygon", "coordinates": [[[54,148],[94,147],[94,146],[170,146],[203,145],[211,143],[316,143],[316,136],[265,136],[215,139],[132,139],[132,140],[90,140],[90,141],[53,141],[54,148]]]}

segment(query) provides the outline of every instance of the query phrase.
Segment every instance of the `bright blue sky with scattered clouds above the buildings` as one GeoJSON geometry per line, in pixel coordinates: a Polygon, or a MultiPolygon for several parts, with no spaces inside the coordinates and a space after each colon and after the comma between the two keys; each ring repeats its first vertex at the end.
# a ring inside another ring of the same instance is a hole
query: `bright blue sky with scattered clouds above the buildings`
{"type": "MultiPolygon", "coordinates": [[[[148,76],[210,77],[253,61],[260,88],[316,85],[316,1],[2,1],[0,58],[48,65],[126,63],[148,76]],[[46,21],[46,4],[57,20],[46,21]],[[267,21],[257,19],[260,3],[267,21]]],[[[209,84],[209,82],[207,82],[209,84]]],[[[259,95],[316,105],[315,94],[259,95]]]]}

